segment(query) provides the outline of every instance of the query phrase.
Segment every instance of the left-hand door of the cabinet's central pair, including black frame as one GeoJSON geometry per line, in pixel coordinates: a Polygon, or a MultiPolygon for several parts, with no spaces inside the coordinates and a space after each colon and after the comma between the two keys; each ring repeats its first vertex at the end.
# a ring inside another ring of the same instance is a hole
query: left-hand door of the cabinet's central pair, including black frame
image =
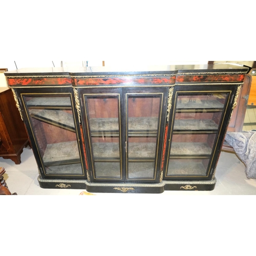
{"type": "Polygon", "coordinates": [[[79,89],[92,181],[122,181],[122,90],[79,89]]]}

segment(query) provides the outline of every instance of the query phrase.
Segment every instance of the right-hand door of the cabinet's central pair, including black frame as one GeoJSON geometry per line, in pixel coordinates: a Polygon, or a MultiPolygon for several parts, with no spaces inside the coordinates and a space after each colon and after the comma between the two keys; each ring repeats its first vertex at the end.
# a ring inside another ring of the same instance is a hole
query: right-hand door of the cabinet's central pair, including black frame
{"type": "Polygon", "coordinates": [[[166,95],[164,88],[124,89],[126,181],[159,181],[166,95]]]}

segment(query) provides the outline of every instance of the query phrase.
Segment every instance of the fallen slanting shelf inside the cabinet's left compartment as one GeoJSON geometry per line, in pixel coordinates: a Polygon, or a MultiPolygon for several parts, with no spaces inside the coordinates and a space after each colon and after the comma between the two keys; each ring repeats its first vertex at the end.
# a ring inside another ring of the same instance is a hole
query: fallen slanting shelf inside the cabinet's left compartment
{"type": "Polygon", "coordinates": [[[29,114],[37,120],[75,132],[73,115],[63,110],[30,109],[29,114]]]}

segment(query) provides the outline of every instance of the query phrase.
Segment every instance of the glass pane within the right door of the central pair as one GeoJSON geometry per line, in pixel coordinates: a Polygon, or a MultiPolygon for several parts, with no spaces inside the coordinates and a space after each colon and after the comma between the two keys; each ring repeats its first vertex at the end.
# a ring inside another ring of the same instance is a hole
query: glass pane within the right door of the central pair
{"type": "Polygon", "coordinates": [[[127,179],[155,179],[162,93],[126,94],[127,179]]]}

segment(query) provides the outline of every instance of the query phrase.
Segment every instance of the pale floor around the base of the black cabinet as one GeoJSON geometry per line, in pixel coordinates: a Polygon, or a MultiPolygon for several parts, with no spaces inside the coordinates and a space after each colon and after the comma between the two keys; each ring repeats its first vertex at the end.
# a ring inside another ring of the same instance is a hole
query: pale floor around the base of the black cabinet
{"type": "MultiPolygon", "coordinates": [[[[38,170],[31,149],[24,148],[22,163],[16,165],[10,159],[0,158],[0,166],[6,173],[4,179],[11,193],[18,195],[79,195],[86,194],[82,189],[40,188],[38,170]]],[[[247,179],[245,166],[235,154],[222,152],[217,165],[215,189],[212,191],[164,191],[160,195],[256,195],[256,179],[247,179]]],[[[105,196],[109,194],[94,193],[105,196]]],[[[113,195],[113,194],[112,194],[113,195]]],[[[117,195],[117,194],[115,194],[117,195]]]]}

